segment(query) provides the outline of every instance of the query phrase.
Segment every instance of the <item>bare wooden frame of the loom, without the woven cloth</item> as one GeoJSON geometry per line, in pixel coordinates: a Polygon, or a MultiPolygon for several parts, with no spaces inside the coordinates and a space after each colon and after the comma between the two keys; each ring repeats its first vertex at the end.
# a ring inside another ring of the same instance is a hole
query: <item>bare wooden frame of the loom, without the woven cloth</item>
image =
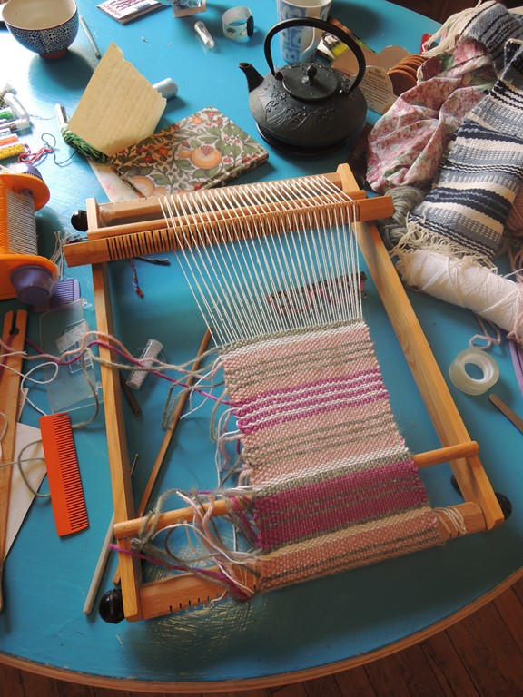
{"type": "MultiPolygon", "coordinates": [[[[304,209],[329,211],[330,214],[336,215],[341,223],[354,224],[358,231],[360,251],[380,293],[441,443],[438,450],[421,453],[412,459],[419,467],[449,462],[465,499],[463,504],[452,506],[452,509],[459,511],[466,533],[491,529],[501,524],[504,518],[479,460],[478,444],[471,441],[459,416],[378,231],[372,224],[363,224],[365,221],[390,217],[392,203],[388,197],[365,199],[365,193],[359,190],[348,165],[340,165],[337,172],[325,174],[323,178],[346,194],[344,198],[350,198],[350,201],[344,201],[342,204],[331,201],[319,190],[312,191],[305,198],[290,197],[278,201],[277,204],[256,202],[257,193],[271,184],[287,186],[290,182],[288,185],[292,188],[292,182],[306,182],[308,189],[314,190],[317,181],[314,177],[198,192],[192,195],[202,211],[219,211],[219,216],[183,213],[171,222],[161,217],[162,208],[160,202],[155,199],[100,205],[90,199],[86,206],[88,240],[68,245],[64,250],[65,258],[70,266],[93,263],[97,328],[99,331],[112,334],[112,301],[105,262],[180,249],[180,237],[173,234],[174,228],[182,231],[182,238],[187,235],[192,244],[203,245],[231,239],[236,241],[242,239],[243,235],[247,236],[248,231],[253,235],[252,231],[256,229],[257,223],[263,219],[273,220],[282,230],[287,230],[289,221],[299,217],[304,209]],[[250,202],[232,205],[231,196],[236,196],[236,201],[250,202]]],[[[108,349],[101,348],[101,357],[110,360],[108,349]]],[[[160,581],[143,583],[139,563],[133,556],[125,554],[125,551],[130,549],[131,537],[136,535],[144,519],[133,517],[133,492],[128,476],[127,445],[118,379],[111,368],[103,366],[102,381],[113,486],[114,530],[123,549],[123,553],[119,555],[119,566],[125,618],[133,621],[156,617],[179,608],[204,603],[221,595],[222,589],[217,590],[214,584],[192,574],[180,574],[160,581]]],[[[217,501],[212,515],[224,513],[225,509],[226,505],[217,501]]],[[[165,512],[160,515],[157,527],[188,520],[192,515],[192,508],[165,512]]],[[[440,532],[442,537],[447,538],[459,534],[458,531],[453,532],[444,529],[443,526],[440,532]]],[[[252,588],[256,586],[256,577],[248,570],[238,567],[237,573],[243,584],[252,588]]]]}

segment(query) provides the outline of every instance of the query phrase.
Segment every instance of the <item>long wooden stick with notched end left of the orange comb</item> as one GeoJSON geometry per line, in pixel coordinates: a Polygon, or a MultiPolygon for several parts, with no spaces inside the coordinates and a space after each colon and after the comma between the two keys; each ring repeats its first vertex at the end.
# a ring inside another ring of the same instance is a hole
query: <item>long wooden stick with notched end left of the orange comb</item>
{"type": "MultiPolygon", "coordinates": [[[[2,340],[13,351],[23,351],[25,345],[25,329],[27,312],[25,309],[11,310],[5,314],[2,340]]],[[[0,353],[5,353],[1,348],[0,353]]],[[[22,369],[22,355],[0,358],[0,412],[4,415],[0,429],[5,428],[4,437],[0,442],[2,454],[0,463],[12,462],[15,456],[15,435],[18,415],[18,397],[22,369]],[[15,373],[17,370],[18,373],[15,373]]],[[[1,431],[0,431],[1,432],[1,431]]],[[[2,572],[4,569],[5,532],[7,529],[7,514],[9,512],[9,496],[11,494],[12,466],[0,466],[0,610],[3,607],[2,572]]]]}

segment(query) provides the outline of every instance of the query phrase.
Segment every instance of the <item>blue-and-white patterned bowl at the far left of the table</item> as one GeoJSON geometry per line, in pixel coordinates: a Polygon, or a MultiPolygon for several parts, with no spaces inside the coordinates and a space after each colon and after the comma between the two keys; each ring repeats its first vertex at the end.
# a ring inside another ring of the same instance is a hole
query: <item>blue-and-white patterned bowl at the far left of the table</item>
{"type": "Polygon", "coordinates": [[[44,58],[64,55],[78,33],[74,0],[9,0],[4,22],[19,44],[44,58]]]}

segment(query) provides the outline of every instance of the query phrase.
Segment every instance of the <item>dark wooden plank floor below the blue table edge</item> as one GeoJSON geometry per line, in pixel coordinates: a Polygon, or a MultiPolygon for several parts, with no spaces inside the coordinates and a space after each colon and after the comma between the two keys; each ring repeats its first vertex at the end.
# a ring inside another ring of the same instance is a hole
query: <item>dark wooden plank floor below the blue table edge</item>
{"type": "MultiPolygon", "coordinates": [[[[488,564],[487,559],[485,563],[488,564]]],[[[0,665],[0,697],[144,697],[144,694],[49,680],[0,665]]],[[[156,694],[160,697],[163,693],[156,694]]],[[[228,694],[236,697],[522,697],[523,579],[446,632],[388,658],[327,678],[228,694]]]]}

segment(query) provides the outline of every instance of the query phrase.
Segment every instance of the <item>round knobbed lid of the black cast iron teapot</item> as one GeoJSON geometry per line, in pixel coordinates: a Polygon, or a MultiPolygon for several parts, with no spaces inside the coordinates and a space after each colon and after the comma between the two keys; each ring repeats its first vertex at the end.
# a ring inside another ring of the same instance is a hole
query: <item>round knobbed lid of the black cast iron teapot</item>
{"type": "Polygon", "coordinates": [[[316,102],[340,89],[340,80],[331,67],[314,63],[295,63],[281,68],[274,77],[296,99],[316,102]]]}

